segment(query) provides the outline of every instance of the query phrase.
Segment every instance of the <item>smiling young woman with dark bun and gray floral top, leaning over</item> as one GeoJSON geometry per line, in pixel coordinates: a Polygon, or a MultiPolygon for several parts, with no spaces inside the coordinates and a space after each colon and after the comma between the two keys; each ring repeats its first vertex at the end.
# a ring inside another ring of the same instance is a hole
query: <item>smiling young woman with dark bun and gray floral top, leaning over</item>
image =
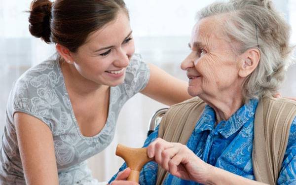
{"type": "Polygon", "coordinates": [[[134,54],[123,0],[34,0],[29,22],[57,54],[13,85],[1,185],[96,184],[85,160],[111,143],[129,98],[141,92],[167,105],[190,98],[185,82],[134,54]]]}

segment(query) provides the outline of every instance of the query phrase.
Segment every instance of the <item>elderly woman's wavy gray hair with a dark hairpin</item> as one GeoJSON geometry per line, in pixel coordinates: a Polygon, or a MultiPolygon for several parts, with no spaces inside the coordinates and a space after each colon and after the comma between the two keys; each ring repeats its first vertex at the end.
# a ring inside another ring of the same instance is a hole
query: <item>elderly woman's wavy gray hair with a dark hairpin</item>
{"type": "Polygon", "coordinates": [[[239,54],[257,47],[260,61],[243,84],[245,101],[275,94],[292,64],[293,47],[289,45],[290,26],[274,9],[271,0],[229,0],[215,2],[197,13],[197,20],[226,15],[222,30],[240,43],[239,54]],[[225,23],[225,24],[224,24],[225,23]]]}

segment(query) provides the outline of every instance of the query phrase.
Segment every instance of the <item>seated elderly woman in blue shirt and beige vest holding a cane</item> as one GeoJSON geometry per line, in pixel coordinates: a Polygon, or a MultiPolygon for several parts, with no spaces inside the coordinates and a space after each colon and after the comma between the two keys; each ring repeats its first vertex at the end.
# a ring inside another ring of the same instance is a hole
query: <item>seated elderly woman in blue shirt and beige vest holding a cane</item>
{"type": "Polygon", "coordinates": [[[189,94],[198,98],[171,107],[148,137],[156,163],[143,168],[140,184],[296,183],[296,103],[271,96],[291,61],[289,35],[270,0],[230,0],[199,11],[181,66],[189,94]]]}

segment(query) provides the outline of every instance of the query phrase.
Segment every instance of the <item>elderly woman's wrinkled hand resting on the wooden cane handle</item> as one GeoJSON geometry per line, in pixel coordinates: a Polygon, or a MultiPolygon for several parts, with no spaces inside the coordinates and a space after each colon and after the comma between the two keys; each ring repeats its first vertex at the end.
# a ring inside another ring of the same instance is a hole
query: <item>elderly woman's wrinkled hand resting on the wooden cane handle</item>
{"type": "Polygon", "coordinates": [[[201,160],[185,145],[157,138],[147,149],[148,156],[155,157],[155,161],[170,174],[202,184],[207,182],[211,165],[201,160]]]}

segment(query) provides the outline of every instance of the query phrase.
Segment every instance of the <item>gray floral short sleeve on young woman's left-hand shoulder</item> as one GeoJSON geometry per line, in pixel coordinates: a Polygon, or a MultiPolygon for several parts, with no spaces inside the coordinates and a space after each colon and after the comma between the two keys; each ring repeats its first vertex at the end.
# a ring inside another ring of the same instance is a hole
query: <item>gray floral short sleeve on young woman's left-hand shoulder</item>
{"type": "Polygon", "coordinates": [[[25,73],[14,83],[9,101],[12,105],[12,120],[15,112],[24,112],[41,120],[50,128],[52,110],[60,102],[52,88],[50,74],[32,72],[25,73]]]}

